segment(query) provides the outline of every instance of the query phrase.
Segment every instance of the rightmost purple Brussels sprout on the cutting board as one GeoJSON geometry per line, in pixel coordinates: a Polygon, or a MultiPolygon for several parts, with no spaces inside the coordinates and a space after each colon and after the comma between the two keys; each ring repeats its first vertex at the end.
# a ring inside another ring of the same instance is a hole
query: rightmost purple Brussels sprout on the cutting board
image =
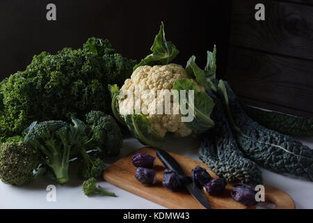
{"type": "Polygon", "coordinates": [[[255,194],[257,194],[255,188],[246,184],[236,185],[232,192],[230,192],[230,195],[235,201],[238,201],[245,206],[257,205],[257,201],[255,200],[255,194]]]}

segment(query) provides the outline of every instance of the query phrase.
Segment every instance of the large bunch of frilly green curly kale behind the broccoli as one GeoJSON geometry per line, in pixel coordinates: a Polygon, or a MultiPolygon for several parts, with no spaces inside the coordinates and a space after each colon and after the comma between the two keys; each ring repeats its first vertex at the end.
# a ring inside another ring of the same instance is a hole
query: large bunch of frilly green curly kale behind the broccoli
{"type": "Polygon", "coordinates": [[[26,70],[0,84],[0,137],[21,134],[33,121],[83,119],[92,109],[111,113],[107,86],[122,85],[134,64],[98,38],[82,49],[33,56],[26,70]]]}

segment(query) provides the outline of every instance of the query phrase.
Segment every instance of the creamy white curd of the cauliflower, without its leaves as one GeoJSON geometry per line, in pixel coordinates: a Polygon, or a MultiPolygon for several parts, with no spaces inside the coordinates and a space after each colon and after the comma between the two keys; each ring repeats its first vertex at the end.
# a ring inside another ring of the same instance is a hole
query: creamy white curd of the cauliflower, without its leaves
{"type": "MultiPolygon", "coordinates": [[[[140,109],[141,114],[147,116],[151,127],[161,136],[164,137],[166,132],[178,134],[181,137],[186,137],[192,133],[192,130],[187,128],[185,123],[182,123],[182,115],[178,114],[157,114],[157,107],[165,107],[163,97],[158,97],[160,93],[170,91],[176,79],[188,78],[186,71],[180,65],[170,63],[165,66],[141,66],[138,67],[130,79],[125,81],[121,88],[121,92],[135,95],[134,98],[129,96],[121,97],[119,100],[120,114],[129,114],[135,107],[140,109]],[[148,90],[148,91],[147,91],[148,90]],[[140,102],[140,103],[138,103],[140,102]],[[139,104],[140,106],[136,106],[139,104]]],[[[197,84],[195,80],[189,79],[197,85],[197,91],[204,91],[204,88],[197,84]]],[[[171,99],[170,108],[173,107],[171,99]]],[[[138,110],[136,110],[138,111],[138,110]]],[[[172,111],[172,109],[171,109],[172,111]]]]}

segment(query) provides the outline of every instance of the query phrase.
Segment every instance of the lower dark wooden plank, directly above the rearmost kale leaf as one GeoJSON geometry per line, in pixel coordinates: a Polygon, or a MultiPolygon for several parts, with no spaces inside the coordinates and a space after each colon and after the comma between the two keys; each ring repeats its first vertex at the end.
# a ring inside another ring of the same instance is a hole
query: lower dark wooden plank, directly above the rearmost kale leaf
{"type": "Polygon", "coordinates": [[[298,116],[313,116],[313,63],[231,47],[226,79],[241,98],[257,107],[298,116]],[[262,103],[258,103],[262,102],[262,103]],[[282,109],[280,109],[280,107],[282,109]]]}

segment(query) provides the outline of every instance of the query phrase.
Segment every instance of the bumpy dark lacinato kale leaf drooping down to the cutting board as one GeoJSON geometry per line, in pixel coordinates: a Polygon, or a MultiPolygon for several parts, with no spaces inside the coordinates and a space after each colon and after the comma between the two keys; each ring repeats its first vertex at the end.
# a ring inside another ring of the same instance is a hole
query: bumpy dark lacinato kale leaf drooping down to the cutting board
{"type": "Polygon", "coordinates": [[[243,157],[236,144],[222,102],[210,95],[216,102],[212,113],[216,126],[200,136],[200,160],[227,183],[262,184],[262,172],[255,162],[243,157]]]}

